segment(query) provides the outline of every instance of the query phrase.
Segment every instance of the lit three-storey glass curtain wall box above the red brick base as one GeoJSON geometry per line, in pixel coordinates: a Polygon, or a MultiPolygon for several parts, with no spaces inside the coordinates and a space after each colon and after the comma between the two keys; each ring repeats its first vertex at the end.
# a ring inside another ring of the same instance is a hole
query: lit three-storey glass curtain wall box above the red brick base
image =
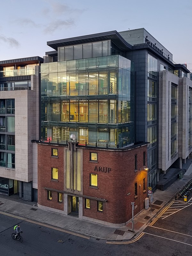
{"type": "Polygon", "coordinates": [[[42,138],[66,143],[75,133],[82,145],[133,143],[132,71],[132,62],[119,55],[42,64],[42,138]]]}

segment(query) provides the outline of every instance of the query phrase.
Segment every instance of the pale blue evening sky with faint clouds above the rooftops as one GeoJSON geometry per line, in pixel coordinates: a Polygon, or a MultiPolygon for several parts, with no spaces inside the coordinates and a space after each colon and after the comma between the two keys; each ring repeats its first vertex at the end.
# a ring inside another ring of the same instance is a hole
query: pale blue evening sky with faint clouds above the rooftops
{"type": "Polygon", "coordinates": [[[0,60],[43,57],[47,41],[145,28],[192,72],[191,0],[1,0],[0,60]]]}

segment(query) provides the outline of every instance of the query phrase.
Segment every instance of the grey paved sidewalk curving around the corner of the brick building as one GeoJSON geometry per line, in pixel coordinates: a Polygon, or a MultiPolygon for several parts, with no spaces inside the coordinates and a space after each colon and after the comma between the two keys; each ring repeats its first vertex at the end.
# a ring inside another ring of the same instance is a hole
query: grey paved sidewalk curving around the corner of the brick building
{"type": "Polygon", "coordinates": [[[132,222],[129,222],[123,227],[110,227],[69,215],[41,210],[37,205],[34,206],[34,202],[23,202],[22,200],[16,200],[16,197],[15,199],[13,197],[11,200],[4,195],[0,195],[0,211],[98,239],[130,240],[133,237],[137,237],[146,225],[150,223],[150,220],[161,211],[165,204],[175,199],[175,194],[191,179],[192,164],[189,166],[182,180],[175,181],[164,191],[156,190],[153,194],[151,211],[149,207],[148,210],[143,210],[134,218],[134,231],[132,231],[132,222]]]}

